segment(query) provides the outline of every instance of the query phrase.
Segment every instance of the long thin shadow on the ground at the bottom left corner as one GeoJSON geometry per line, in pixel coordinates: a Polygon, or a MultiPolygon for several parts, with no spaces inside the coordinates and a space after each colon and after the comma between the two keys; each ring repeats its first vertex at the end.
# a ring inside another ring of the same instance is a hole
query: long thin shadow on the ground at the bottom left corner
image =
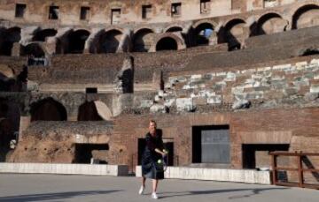
{"type": "Polygon", "coordinates": [[[31,201],[46,201],[46,200],[59,200],[66,198],[81,197],[87,195],[97,195],[97,194],[108,194],[121,190],[110,190],[110,191],[67,191],[58,193],[43,193],[43,194],[28,194],[19,195],[11,197],[1,197],[0,201],[5,202],[31,202],[31,201]]]}

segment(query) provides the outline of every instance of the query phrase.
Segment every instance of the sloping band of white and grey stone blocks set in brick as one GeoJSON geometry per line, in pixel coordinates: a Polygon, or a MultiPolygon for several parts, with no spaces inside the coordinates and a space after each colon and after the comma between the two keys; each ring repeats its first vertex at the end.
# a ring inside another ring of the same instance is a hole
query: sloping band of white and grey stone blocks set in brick
{"type": "Polygon", "coordinates": [[[150,111],[318,106],[318,73],[318,59],[242,71],[179,73],[168,78],[164,91],[154,97],[150,111]]]}

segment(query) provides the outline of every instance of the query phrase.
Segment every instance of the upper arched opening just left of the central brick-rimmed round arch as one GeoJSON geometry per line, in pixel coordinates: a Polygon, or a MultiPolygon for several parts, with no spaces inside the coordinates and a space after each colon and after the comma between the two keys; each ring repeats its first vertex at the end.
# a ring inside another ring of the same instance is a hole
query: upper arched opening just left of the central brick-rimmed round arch
{"type": "Polygon", "coordinates": [[[134,34],[133,51],[134,52],[147,52],[152,46],[152,30],[141,29],[134,34]]]}

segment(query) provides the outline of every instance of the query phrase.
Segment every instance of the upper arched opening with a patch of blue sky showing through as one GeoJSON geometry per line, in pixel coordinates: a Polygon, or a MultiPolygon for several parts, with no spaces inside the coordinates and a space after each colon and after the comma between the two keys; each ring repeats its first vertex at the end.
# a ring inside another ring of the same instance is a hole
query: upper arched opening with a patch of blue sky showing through
{"type": "Polygon", "coordinates": [[[214,33],[214,26],[210,23],[202,23],[195,28],[195,43],[198,46],[209,45],[209,38],[214,33]]]}

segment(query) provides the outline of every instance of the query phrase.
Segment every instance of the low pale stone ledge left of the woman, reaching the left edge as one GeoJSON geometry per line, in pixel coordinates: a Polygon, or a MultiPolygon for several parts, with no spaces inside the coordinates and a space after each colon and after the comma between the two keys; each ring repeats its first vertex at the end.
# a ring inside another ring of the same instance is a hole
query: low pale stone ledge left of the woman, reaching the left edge
{"type": "Polygon", "coordinates": [[[128,176],[128,166],[62,163],[0,163],[0,173],[128,176]]]}

